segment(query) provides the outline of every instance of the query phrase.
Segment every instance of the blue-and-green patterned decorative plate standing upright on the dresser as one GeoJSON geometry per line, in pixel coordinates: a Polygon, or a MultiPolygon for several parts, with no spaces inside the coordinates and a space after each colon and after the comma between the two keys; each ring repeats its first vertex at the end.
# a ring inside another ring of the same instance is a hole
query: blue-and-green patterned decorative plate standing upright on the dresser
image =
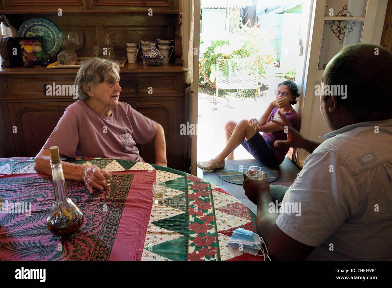
{"type": "Polygon", "coordinates": [[[32,18],[20,26],[18,37],[42,36],[45,42],[45,52],[57,53],[60,50],[59,33],[57,27],[52,22],[44,18],[32,18]]]}

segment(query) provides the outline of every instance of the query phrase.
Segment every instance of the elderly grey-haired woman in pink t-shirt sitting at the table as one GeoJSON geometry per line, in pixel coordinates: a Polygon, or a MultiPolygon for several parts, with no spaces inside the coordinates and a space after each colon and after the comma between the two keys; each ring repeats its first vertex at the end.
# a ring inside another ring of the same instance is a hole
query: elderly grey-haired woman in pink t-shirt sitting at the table
{"type": "MultiPolygon", "coordinates": [[[[162,125],[118,101],[120,67],[110,60],[93,58],[76,75],[78,101],[69,105],[52,134],[35,157],[34,170],[51,175],[49,147],[58,146],[60,156],[93,156],[144,162],[136,143],[154,140],[155,164],[167,166],[162,125]]],[[[65,179],[83,181],[93,187],[107,186],[97,166],[63,163],[65,179]]]]}

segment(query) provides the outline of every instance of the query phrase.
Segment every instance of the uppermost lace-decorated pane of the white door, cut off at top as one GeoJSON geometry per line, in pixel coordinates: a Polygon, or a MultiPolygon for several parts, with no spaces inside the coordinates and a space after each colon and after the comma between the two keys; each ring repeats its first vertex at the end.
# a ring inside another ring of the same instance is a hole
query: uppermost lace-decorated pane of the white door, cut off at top
{"type": "Polygon", "coordinates": [[[325,16],[365,17],[366,2],[367,0],[327,0],[325,16]]]}

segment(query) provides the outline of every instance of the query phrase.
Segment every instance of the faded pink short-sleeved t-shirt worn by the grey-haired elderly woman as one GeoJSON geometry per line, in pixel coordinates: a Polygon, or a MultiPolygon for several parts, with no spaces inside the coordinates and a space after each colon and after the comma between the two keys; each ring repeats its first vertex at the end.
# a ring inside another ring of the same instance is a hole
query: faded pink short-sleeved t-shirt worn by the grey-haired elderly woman
{"type": "Polygon", "coordinates": [[[42,148],[58,146],[60,154],[144,162],[135,144],[154,139],[156,122],[123,102],[105,117],[82,100],[69,105],[42,148]]]}

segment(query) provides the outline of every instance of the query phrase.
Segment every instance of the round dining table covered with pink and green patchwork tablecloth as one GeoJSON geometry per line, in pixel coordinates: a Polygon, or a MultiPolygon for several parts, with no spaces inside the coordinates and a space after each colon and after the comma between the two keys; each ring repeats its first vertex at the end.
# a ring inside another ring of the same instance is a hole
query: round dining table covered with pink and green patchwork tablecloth
{"type": "MultiPolygon", "coordinates": [[[[218,186],[148,163],[96,157],[62,158],[112,168],[111,185],[90,194],[66,180],[82,210],[82,228],[69,239],[51,234],[52,177],[34,170],[34,157],[0,159],[0,261],[263,261],[227,242],[238,228],[256,232],[256,216],[218,186]],[[162,204],[152,185],[163,182],[162,204]]],[[[256,232],[257,233],[257,232],[256,232]]]]}

